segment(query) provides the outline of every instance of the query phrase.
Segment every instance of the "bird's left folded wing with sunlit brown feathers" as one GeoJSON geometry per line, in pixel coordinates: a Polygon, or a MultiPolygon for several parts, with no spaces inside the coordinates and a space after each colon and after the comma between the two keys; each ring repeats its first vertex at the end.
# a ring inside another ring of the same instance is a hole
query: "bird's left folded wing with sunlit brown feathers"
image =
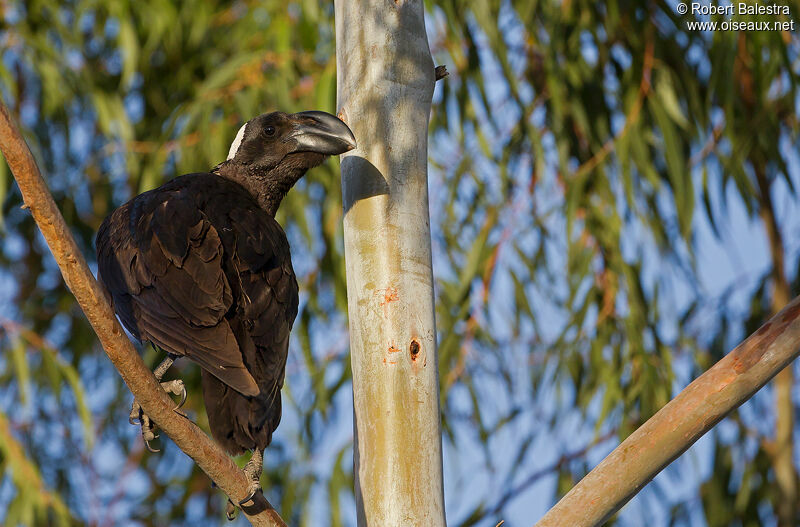
{"type": "Polygon", "coordinates": [[[137,197],[104,222],[97,246],[100,277],[134,336],[187,356],[244,395],[259,393],[225,320],[233,296],[223,243],[191,188],[137,197]]]}

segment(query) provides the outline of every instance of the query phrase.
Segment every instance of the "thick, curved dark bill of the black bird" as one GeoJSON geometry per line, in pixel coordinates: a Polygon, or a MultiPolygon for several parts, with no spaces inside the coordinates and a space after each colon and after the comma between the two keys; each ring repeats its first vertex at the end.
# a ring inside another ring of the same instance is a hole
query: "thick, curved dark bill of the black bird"
{"type": "Polygon", "coordinates": [[[329,113],[300,112],[290,118],[295,124],[287,139],[296,143],[295,152],[316,152],[330,156],[343,154],[356,147],[356,138],[350,128],[329,113]]]}

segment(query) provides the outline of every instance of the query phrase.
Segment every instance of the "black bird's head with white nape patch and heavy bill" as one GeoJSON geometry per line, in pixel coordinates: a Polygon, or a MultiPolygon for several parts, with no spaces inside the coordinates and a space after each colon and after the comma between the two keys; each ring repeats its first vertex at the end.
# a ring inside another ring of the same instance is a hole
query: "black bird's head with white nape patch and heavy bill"
{"type": "Polygon", "coordinates": [[[350,128],[329,113],[266,113],[239,128],[228,159],[214,171],[244,186],[263,209],[275,214],[308,169],[355,147],[350,128]]]}

